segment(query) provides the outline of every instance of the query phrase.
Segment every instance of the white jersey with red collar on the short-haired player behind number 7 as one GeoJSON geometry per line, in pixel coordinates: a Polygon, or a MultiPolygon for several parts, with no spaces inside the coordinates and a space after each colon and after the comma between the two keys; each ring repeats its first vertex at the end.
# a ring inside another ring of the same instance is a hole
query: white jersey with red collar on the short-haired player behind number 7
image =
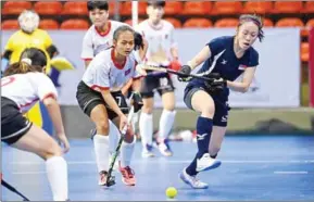
{"type": "MultiPolygon", "coordinates": [[[[109,49],[113,43],[113,33],[125,23],[117,21],[109,21],[109,28],[104,34],[101,34],[95,25],[92,25],[83,39],[83,48],[80,58],[86,61],[90,61],[102,50],[109,49]]],[[[129,25],[127,25],[129,26],[129,25]]]]}

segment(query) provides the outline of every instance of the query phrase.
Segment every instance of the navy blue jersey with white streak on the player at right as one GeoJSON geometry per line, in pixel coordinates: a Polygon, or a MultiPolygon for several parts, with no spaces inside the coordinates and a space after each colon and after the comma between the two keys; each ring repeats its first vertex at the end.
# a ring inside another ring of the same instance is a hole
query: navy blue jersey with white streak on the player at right
{"type": "MultiPolygon", "coordinates": [[[[219,73],[224,79],[235,80],[237,79],[247,67],[254,67],[259,65],[259,53],[250,47],[244,55],[240,59],[236,56],[234,51],[233,36],[218,37],[213,39],[206,46],[211,50],[211,58],[209,58],[198,73],[219,73]]],[[[203,87],[204,81],[202,79],[192,79],[188,87],[203,87]]]]}

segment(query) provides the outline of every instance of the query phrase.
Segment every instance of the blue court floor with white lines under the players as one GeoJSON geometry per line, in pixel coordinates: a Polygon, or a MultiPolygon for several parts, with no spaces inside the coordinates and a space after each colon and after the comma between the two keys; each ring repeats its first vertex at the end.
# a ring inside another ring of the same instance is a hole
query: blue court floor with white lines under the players
{"type": "MultiPolygon", "coordinates": [[[[177,201],[211,200],[313,200],[314,136],[228,136],[219,168],[200,174],[210,184],[206,190],[193,190],[178,179],[197,151],[191,142],[172,142],[172,157],[158,154],[141,159],[137,143],[133,167],[135,187],[126,187],[116,173],[116,185],[98,186],[97,167],[90,139],[72,140],[68,162],[72,201],[165,201],[165,189],[178,190],[177,201]]],[[[45,163],[34,154],[2,144],[3,178],[30,200],[51,201],[45,163]]],[[[2,188],[3,201],[21,198],[2,188]]]]}

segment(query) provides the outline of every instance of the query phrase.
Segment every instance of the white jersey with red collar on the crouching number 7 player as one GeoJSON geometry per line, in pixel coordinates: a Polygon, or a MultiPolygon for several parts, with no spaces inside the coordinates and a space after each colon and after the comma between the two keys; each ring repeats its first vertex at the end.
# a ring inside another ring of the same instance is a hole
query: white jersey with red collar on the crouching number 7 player
{"type": "Polygon", "coordinates": [[[114,62],[114,49],[101,51],[89,63],[83,75],[83,81],[91,89],[118,91],[131,78],[139,78],[136,59],[131,53],[124,65],[114,62]]]}

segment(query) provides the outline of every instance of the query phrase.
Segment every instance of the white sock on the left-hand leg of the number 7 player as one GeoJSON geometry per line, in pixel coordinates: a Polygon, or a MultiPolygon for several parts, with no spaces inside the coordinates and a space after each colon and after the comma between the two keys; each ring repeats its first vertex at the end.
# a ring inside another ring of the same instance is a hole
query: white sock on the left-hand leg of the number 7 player
{"type": "Polygon", "coordinates": [[[96,163],[98,173],[109,169],[109,137],[96,135],[93,137],[93,149],[96,154],[96,163]]]}

